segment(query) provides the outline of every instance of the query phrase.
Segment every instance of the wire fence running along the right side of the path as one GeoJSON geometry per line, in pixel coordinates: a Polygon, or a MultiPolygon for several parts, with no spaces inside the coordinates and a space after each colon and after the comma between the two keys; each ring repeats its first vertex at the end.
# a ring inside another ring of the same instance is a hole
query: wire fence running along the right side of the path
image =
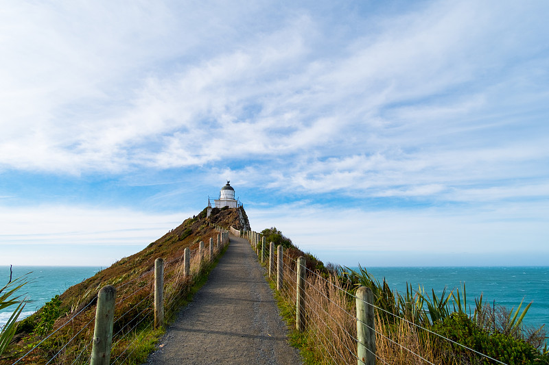
{"type": "MultiPolygon", "coordinates": [[[[269,255],[266,244],[257,232],[248,232],[246,238],[255,249],[259,260],[269,255]]],[[[298,257],[294,251],[283,253],[283,286],[279,290],[286,305],[299,311],[298,257]]],[[[279,260],[278,254],[267,260],[279,260]]],[[[270,262],[266,261],[269,265],[270,262]]],[[[268,266],[267,266],[268,267],[268,266]]],[[[274,265],[276,268],[277,265],[274,265]]],[[[318,364],[468,364],[472,357],[479,364],[504,364],[500,360],[471,349],[450,338],[441,336],[413,320],[384,310],[360,298],[357,288],[339,273],[318,272],[305,266],[306,279],[301,288],[305,307],[305,348],[314,349],[312,356],[318,364]],[[372,312],[369,321],[358,316],[358,304],[372,312]],[[358,329],[373,333],[373,344],[364,339],[358,329]],[[447,351],[458,348],[461,351],[447,351]],[[445,349],[445,350],[443,350],[445,349]],[[464,355],[467,351],[467,355],[464,355]]],[[[369,290],[369,289],[368,289],[369,290]]],[[[296,323],[297,325],[297,323],[296,323]]]]}

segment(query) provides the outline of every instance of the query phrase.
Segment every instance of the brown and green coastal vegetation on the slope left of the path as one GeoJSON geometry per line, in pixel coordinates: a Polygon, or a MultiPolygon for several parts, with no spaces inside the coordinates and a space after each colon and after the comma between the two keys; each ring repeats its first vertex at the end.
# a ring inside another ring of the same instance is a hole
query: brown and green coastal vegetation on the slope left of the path
{"type": "Polygon", "coordinates": [[[165,262],[165,321],[170,323],[178,309],[205,284],[224,252],[209,257],[206,249],[202,259],[198,255],[200,241],[206,243],[205,248],[210,238],[217,243],[214,225],[242,228],[234,209],[214,209],[209,217],[203,210],[187,218],[139,253],[121,258],[56,295],[20,321],[12,331],[11,344],[0,356],[0,364],[13,364],[19,359],[17,364],[88,364],[97,292],[106,285],[116,288],[111,364],[141,364],[163,334],[163,329],[154,329],[154,260],[162,257],[165,262]],[[189,277],[183,275],[183,253],[187,248],[191,251],[189,277]]]}

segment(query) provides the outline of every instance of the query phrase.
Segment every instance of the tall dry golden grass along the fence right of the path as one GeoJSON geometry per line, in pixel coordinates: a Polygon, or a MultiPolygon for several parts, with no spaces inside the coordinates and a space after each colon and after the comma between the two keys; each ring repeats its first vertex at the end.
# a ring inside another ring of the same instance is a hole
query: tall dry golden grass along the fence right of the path
{"type": "MultiPolygon", "coordinates": [[[[284,257],[283,290],[281,297],[295,308],[296,261],[284,257]]],[[[356,364],[357,329],[354,289],[349,288],[337,275],[327,278],[307,270],[305,288],[305,351],[313,353],[316,364],[356,364]]],[[[457,360],[447,358],[436,349],[432,335],[406,320],[396,319],[388,323],[377,313],[376,357],[379,364],[457,365],[457,360]]],[[[310,357],[310,356],[309,356],[310,357]]]]}

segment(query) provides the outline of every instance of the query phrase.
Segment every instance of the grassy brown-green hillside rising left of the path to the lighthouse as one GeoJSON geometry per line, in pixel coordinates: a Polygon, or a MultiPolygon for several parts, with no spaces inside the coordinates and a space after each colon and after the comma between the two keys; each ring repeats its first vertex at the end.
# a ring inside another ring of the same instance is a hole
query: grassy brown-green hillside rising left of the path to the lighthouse
{"type": "MultiPolygon", "coordinates": [[[[158,240],[150,243],[145,249],[134,255],[124,257],[112,266],[101,270],[93,277],[71,286],[60,296],[54,297],[38,312],[21,321],[16,336],[8,351],[0,358],[0,364],[12,364],[25,354],[28,349],[38,347],[18,364],[45,364],[59,351],[63,352],[64,360],[54,363],[73,362],[77,353],[86,353],[87,343],[93,334],[93,318],[97,292],[106,285],[117,288],[117,305],[113,333],[121,333],[127,338],[113,345],[113,352],[120,351],[125,344],[131,343],[132,336],[141,324],[150,323],[152,316],[151,299],[153,292],[154,260],[163,258],[165,267],[165,301],[167,317],[185,302],[185,297],[208,265],[209,260],[200,264],[198,255],[191,259],[191,277],[183,277],[180,267],[183,263],[183,253],[188,247],[196,252],[200,241],[208,247],[209,239],[217,243],[218,231],[214,225],[229,229],[249,229],[248,218],[243,207],[229,209],[227,207],[213,208],[211,216],[206,216],[206,210],[192,218],[187,218],[181,225],[168,231],[158,240]],[[193,261],[194,260],[194,261],[193,261]],[[193,266],[193,262],[195,266],[193,266]],[[194,267],[194,269],[192,268],[194,267]],[[171,312],[170,312],[171,311],[171,312]],[[78,314],[78,315],[77,315],[78,314]],[[67,322],[71,322],[65,325],[67,322]],[[64,327],[62,327],[65,325],[64,327]],[[49,333],[62,327],[47,338],[49,333]],[[67,341],[69,344],[66,347],[67,341]],[[41,342],[43,341],[43,342],[41,342]],[[41,343],[40,343],[41,342],[41,343]]],[[[208,251],[208,250],[206,250],[208,251]]],[[[214,257],[211,258],[214,260],[214,257]]],[[[152,336],[154,338],[154,336],[152,336]]],[[[115,339],[113,339],[114,344],[115,339]]],[[[58,357],[60,355],[57,355],[58,357]]],[[[85,357],[85,356],[84,356],[85,357]]],[[[75,363],[80,363],[76,361],[75,363]]],[[[82,364],[84,364],[82,362],[82,364]]]]}

